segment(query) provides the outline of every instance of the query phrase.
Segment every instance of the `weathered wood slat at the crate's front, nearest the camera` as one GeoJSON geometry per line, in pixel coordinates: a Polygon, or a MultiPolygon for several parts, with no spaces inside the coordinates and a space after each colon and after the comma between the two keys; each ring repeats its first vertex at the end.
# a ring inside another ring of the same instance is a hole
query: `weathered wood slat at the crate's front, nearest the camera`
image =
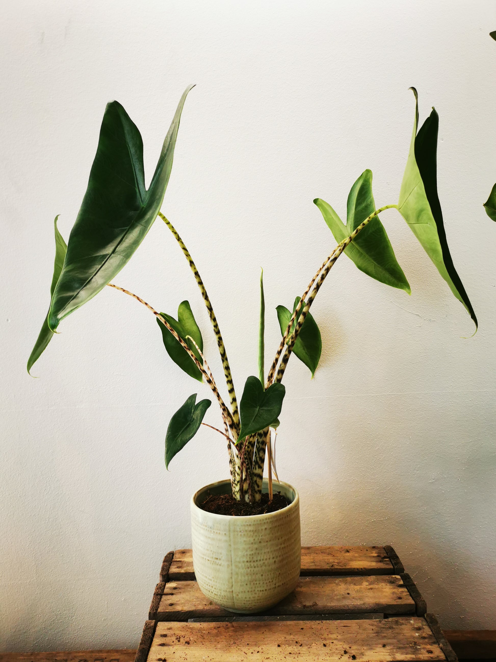
{"type": "Polygon", "coordinates": [[[446,662],[423,618],[158,623],[148,662],[446,662]]]}

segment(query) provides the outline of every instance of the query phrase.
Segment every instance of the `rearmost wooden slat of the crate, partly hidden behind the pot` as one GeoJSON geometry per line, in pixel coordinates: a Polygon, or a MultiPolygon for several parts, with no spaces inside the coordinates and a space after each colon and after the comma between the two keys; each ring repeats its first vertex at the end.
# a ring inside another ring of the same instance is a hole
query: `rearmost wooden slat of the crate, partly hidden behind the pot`
{"type": "MultiPolygon", "coordinates": [[[[165,559],[164,559],[165,561],[165,559]]],[[[399,575],[405,570],[390,545],[380,547],[302,547],[302,575],[399,575]],[[386,551],[388,549],[389,551],[386,551]]],[[[191,549],[177,549],[169,567],[169,581],[192,581],[191,549]]],[[[167,581],[161,573],[161,581],[167,581]]]]}

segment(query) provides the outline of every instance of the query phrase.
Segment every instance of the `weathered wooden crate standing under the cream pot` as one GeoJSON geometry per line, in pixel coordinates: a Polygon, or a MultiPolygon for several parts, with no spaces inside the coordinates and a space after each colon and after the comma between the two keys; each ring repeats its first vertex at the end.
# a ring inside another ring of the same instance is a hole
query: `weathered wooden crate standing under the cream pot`
{"type": "Polygon", "coordinates": [[[389,545],[303,547],[300,582],[256,615],[206,598],[190,549],[162,563],[136,662],[456,662],[389,545]]]}

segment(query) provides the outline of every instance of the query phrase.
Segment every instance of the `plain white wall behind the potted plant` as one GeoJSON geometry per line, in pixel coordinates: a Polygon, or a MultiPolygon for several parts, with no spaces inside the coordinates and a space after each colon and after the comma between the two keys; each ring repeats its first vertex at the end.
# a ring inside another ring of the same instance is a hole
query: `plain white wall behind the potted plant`
{"type": "MultiPolygon", "coordinates": [[[[304,544],[392,544],[445,628],[494,628],[496,29],[491,0],[4,3],[1,21],[1,598],[3,650],[134,647],[161,559],[190,545],[188,500],[227,476],[203,430],[166,473],[169,418],[192,383],[155,320],[116,291],[71,315],[30,379],[46,313],[52,222],[67,238],[105,104],[140,128],[151,176],[190,82],[164,211],[208,286],[241,395],[256,373],[259,267],[267,361],[289,306],[335,244],[314,197],[345,210],[367,167],[394,203],[413,95],[440,115],[439,194],[479,317],[450,294],[395,211],[383,214],[413,294],[347,258],[312,312],[315,379],[286,373],[278,471],[300,490],[304,544]]],[[[174,313],[188,265],[157,222],[114,282],[174,313]]],[[[225,391],[224,391],[225,392],[225,391]]],[[[215,406],[206,418],[218,424],[215,406]]]]}

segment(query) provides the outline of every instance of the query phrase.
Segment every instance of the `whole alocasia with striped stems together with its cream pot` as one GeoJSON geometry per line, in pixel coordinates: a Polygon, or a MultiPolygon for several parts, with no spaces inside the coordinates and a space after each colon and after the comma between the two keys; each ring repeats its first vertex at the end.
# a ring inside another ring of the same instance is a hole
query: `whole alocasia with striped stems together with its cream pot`
{"type": "MultiPolygon", "coordinates": [[[[345,253],[367,275],[409,294],[408,281],[379,218],[383,211],[395,209],[409,224],[454,296],[468,310],[475,328],[477,319],[454,269],[444,232],[436,187],[438,115],[433,109],[417,132],[417,92],[413,89],[415,122],[399,201],[376,208],[370,170],[364,171],[351,187],[346,224],[328,203],[315,199],[338,245],[323,260],[301,297],[296,298],[293,310],[277,307],[282,339],[267,373],[261,276],[259,374],[247,378],[238,404],[224,339],[202,278],[177,230],[160,211],[189,90],[190,87],[181,97],[149,189],[145,189],[144,183],[140,132],[119,103],[107,105],[87,192],[67,246],[55,219],[56,258],[50,308],[29,357],[28,371],[63,318],[107,285],[130,295],[153,313],[171,359],[212,391],[220,407],[223,428],[214,429],[226,438],[229,480],[208,485],[191,499],[193,562],[198,585],[204,594],[229,610],[253,612],[269,608],[286,596],[296,586],[300,573],[298,492],[278,480],[272,434],[275,438],[285,395],[282,378],[291,355],[303,361],[312,376],[319,363],[321,336],[310,307],[335,261],[345,253]],[[203,354],[202,333],[188,301],[179,305],[174,318],[110,282],[130,260],[157,217],[175,236],[198,283],[222,358],[229,404],[222,399],[203,354]],[[264,480],[266,455],[268,478],[264,480]],[[272,469],[277,479],[275,488],[272,469]]],[[[208,399],[196,402],[194,393],[172,416],[165,438],[167,467],[204,424],[210,404],[208,399]]]]}

